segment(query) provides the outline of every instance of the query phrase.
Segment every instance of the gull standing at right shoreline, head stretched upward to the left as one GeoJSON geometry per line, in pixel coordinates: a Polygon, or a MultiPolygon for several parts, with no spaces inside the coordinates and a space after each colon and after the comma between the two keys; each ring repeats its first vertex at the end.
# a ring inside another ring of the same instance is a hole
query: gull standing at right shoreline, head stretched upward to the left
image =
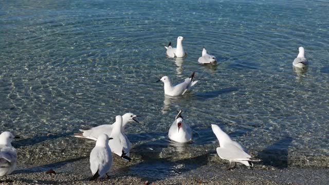
{"type": "Polygon", "coordinates": [[[241,144],[236,141],[232,141],[230,136],[221,130],[218,125],[211,124],[212,131],[216,135],[218,141],[220,141],[220,147],[217,147],[216,151],[221,159],[226,159],[230,161],[230,165],[227,170],[231,169],[231,163],[234,162],[234,167],[236,162],[241,162],[247,167],[253,167],[252,162],[261,161],[260,159],[252,159],[249,154],[244,150],[241,144]]]}

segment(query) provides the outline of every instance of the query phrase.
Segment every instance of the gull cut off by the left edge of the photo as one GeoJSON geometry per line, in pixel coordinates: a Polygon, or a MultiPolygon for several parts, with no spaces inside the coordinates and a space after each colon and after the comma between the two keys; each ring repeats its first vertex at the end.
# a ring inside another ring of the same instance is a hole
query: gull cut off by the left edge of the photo
{"type": "Polygon", "coordinates": [[[11,146],[14,137],[10,132],[0,134],[0,177],[9,175],[16,168],[17,153],[16,149],[11,146]]]}

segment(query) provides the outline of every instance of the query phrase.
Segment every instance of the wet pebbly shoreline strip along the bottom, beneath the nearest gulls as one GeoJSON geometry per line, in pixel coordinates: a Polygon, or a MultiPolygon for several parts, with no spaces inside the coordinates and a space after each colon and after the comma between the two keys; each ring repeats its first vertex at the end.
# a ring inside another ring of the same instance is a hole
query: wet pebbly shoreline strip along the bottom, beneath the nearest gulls
{"type": "MultiPolygon", "coordinates": [[[[0,177],[2,184],[95,184],[88,181],[93,142],[71,136],[29,142],[35,141],[23,139],[13,143],[18,155],[17,169],[7,177],[0,177]],[[57,174],[46,174],[50,169],[57,174]]],[[[177,158],[154,151],[143,151],[134,144],[133,161],[125,162],[114,156],[111,179],[98,184],[143,184],[145,181],[154,184],[329,184],[328,157],[308,160],[305,156],[289,154],[286,161],[276,162],[270,158],[273,161],[269,165],[268,159],[263,159],[252,169],[239,164],[227,171],[228,162],[216,156],[214,150],[177,158]]]]}

